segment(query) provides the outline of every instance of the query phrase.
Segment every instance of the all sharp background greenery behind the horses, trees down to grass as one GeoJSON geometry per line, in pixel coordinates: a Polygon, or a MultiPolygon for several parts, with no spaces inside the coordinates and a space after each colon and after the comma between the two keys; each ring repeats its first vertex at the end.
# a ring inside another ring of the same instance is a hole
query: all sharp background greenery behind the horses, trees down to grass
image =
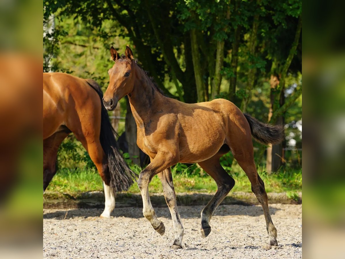
{"type": "MultiPolygon", "coordinates": [[[[225,98],[263,122],[284,124],[281,145],[266,150],[254,142],[255,160],[268,191],[301,189],[301,1],[46,1],[43,27],[44,71],[93,78],[105,90],[110,46],[121,53],[129,45],[166,95],[187,103],[225,98]]],[[[120,116],[129,116],[126,100],[120,104],[120,116]]],[[[126,127],[120,121],[119,135],[126,127]]],[[[140,172],[137,153],[129,153],[129,164],[140,172]]],[[[250,191],[231,154],[221,163],[236,190],[250,191]]],[[[73,136],[62,143],[58,166],[50,188],[102,189],[73,136]]],[[[173,171],[177,191],[216,188],[197,165],[178,164],[173,171]]],[[[159,190],[156,181],[152,191],[159,190]]]]}

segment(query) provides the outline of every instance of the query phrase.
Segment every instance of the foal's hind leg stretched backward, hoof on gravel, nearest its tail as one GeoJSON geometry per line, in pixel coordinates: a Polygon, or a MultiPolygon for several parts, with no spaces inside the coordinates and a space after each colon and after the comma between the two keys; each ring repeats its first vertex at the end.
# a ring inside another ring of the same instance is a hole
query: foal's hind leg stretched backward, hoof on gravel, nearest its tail
{"type": "Polygon", "coordinates": [[[243,140],[237,139],[232,141],[231,151],[238,164],[242,167],[243,171],[247,174],[250,183],[252,184],[252,191],[261,204],[265,219],[266,219],[266,229],[268,237],[270,239],[269,243],[271,246],[277,246],[277,230],[273,225],[271,215],[268,209],[268,199],[267,193],[265,191],[265,185],[263,180],[260,178],[256,171],[256,166],[254,162],[254,150],[253,142],[248,134],[243,138],[243,140]]]}

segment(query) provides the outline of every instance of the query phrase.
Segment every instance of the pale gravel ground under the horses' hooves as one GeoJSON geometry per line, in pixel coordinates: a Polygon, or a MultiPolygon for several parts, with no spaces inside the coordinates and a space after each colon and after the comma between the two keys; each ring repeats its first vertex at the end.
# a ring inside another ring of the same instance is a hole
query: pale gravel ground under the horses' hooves
{"type": "Polygon", "coordinates": [[[272,204],[278,247],[270,247],[261,206],[220,205],[211,233],[201,238],[203,206],[180,206],[183,249],[172,250],[174,229],[168,208],[155,208],[165,224],[160,236],[141,208],[115,208],[111,219],[100,209],[43,210],[44,258],[301,258],[302,205],[272,204]]]}

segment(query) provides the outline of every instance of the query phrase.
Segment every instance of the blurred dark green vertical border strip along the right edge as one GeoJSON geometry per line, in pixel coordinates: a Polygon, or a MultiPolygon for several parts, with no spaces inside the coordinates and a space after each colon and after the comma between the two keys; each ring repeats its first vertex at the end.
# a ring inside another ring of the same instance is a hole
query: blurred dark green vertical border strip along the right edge
{"type": "Polygon", "coordinates": [[[308,1],[303,31],[305,258],[343,258],[345,243],[344,2],[308,1]],[[341,6],[339,6],[341,5],[341,6]],[[326,8],[325,8],[326,7],[326,8]]]}

